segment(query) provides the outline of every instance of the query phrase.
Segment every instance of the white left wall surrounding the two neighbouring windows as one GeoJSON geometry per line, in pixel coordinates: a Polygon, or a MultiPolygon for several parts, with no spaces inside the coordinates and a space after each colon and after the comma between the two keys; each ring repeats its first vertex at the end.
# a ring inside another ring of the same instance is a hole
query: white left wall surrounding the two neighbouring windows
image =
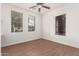
{"type": "Polygon", "coordinates": [[[2,4],[2,47],[41,38],[41,15],[9,4],[2,4]],[[23,32],[11,32],[11,10],[23,13],[23,32]],[[36,31],[28,32],[28,15],[36,16],[36,31]]]}

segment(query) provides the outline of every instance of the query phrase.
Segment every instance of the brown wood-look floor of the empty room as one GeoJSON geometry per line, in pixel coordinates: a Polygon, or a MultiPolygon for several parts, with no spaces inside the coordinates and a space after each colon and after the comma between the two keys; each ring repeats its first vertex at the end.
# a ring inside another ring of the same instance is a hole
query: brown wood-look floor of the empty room
{"type": "Polygon", "coordinates": [[[3,56],[79,56],[79,49],[45,39],[3,47],[1,51],[3,56]]]}

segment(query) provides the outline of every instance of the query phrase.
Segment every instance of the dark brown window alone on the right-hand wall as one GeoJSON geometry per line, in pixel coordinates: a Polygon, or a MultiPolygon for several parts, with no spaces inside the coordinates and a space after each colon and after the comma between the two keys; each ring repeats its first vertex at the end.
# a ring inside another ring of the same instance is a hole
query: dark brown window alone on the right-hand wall
{"type": "Polygon", "coordinates": [[[66,15],[59,15],[56,16],[56,20],[55,20],[55,31],[56,31],[56,35],[65,35],[65,28],[66,25],[66,15]]]}

